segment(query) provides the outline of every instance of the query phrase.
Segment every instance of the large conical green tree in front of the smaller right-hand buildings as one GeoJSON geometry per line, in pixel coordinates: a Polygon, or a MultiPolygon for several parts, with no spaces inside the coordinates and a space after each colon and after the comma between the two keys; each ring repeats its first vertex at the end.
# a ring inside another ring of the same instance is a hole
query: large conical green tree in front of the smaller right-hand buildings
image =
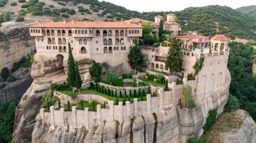
{"type": "Polygon", "coordinates": [[[170,40],[170,48],[168,50],[168,56],[166,59],[166,68],[170,69],[170,72],[181,72],[183,70],[183,59],[181,58],[179,40],[172,38],[170,40]]]}

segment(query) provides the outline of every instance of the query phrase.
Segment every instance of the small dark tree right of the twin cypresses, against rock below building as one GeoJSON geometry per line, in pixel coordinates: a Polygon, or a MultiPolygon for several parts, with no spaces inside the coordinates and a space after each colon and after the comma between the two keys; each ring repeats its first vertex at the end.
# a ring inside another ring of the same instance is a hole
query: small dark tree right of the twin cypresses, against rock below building
{"type": "Polygon", "coordinates": [[[102,65],[95,60],[92,61],[92,66],[89,68],[89,73],[96,83],[100,81],[100,75],[102,73],[102,65]]]}

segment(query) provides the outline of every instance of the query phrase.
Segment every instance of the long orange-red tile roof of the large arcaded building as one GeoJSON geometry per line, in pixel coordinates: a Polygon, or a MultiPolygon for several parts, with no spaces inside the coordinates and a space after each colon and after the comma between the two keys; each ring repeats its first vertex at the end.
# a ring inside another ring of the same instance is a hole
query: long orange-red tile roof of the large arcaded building
{"type": "Polygon", "coordinates": [[[38,23],[29,28],[143,28],[137,24],[121,23],[121,21],[74,21],[38,23]]]}

